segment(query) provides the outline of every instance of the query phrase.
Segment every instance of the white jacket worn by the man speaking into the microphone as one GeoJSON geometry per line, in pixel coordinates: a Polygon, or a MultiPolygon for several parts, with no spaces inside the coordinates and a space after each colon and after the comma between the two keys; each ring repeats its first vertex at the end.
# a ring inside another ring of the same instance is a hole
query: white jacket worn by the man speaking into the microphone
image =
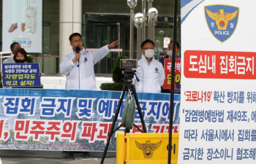
{"type": "Polygon", "coordinates": [[[104,58],[110,50],[108,45],[101,47],[94,52],[86,52],[83,48],[80,51],[80,60],[72,62],[75,58],[75,52],[65,55],[59,68],[61,72],[66,75],[66,89],[67,90],[97,90],[94,74],[94,65],[104,58]]]}

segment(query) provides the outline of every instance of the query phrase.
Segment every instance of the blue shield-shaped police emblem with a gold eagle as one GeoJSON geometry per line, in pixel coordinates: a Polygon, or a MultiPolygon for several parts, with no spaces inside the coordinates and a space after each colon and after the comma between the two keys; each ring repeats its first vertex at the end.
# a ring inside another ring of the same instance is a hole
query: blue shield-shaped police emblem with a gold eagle
{"type": "Polygon", "coordinates": [[[205,6],[204,10],[211,34],[220,42],[229,39],[238,24],[239,8],[218,4],[205,6]]]}

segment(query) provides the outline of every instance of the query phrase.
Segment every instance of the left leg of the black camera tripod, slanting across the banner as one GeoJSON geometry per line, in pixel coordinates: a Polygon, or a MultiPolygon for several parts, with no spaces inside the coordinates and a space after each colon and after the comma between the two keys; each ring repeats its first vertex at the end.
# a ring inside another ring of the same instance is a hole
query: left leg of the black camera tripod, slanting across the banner
{"type": "Polygon", "coordinates": [[[124,93],[125,91],[127,90],[127,85],[125,85],[123,87],[123,91],[121,93],[121,98],[118,102],[118,106],[116,108],[116,114],[115,114],[115,117],[113,118],[113,122],[112,122],[112,126],[111,126],[111,129],[110,129],[110,132],[108,133],[108,141],[107,141],[107,144],[106,144],[106,147],[105,147],[105,150],[103,152],[103,155],[102,155],[102,161],[100,162],[100,164],[103,164],[104,160],[105,160],[105,157],[106,157],[106,154],[107,154],[107,151],[108,151],[108,146],[110,144],[110,139],[113,135],[113,130],[115,128],[115,124],[116,124],[116,120],[118,119],[118,114],[120,112],[120,109],[121,109],[121,104],[122,104],[122,101],[123,101],[123,98],[124,98],[124,93]]]}

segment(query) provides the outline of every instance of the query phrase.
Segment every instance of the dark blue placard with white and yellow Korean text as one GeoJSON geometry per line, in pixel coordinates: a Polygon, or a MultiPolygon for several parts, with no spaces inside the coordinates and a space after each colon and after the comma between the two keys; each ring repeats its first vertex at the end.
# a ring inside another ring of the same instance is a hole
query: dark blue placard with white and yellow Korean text
{"type": "Polygon", "coordinates": [[[39,87],[39,63],[2,64],[3,87],[39,87]]]}

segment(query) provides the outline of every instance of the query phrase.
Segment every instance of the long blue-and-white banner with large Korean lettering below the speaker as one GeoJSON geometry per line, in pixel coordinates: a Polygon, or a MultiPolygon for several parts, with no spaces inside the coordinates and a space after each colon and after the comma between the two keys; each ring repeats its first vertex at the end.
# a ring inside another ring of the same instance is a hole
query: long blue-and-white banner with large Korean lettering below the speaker
{"type": "MultiPolygon", "coordinates": [[[[0,90],[0,149],[103,151],[121,92],[89,90],[0,90]]],[[[149,133],[169,131],[170,95],[138,93],[149,133]]],[[[125,98],[115,128],[121,124],[125,98]]],[[[178,133],[180,96],[174,97],[178,133]]],[[[135,125],[141,128],[136,109],[135,125]]],[[[133,128],[132,133],[140,133],[133,128]]],[[[118,130],[124,132],[124,128],[118,130]]],[[[109,151],[116,151],[116,136],[109,151]]]]}

